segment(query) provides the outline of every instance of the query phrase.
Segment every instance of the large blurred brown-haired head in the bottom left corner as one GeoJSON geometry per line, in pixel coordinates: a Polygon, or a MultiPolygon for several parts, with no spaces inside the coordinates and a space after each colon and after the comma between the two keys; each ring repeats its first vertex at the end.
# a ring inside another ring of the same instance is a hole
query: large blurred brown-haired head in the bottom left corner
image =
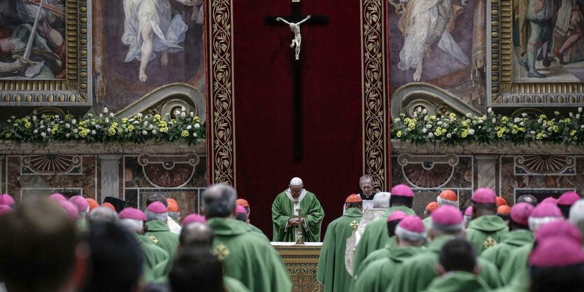
{"type": "Polygon", "coordinates": [[[55,202],[30,200],[0,217],[0,278],[8,291],[63,288],[76,258],[75,224],[55,202]]]}

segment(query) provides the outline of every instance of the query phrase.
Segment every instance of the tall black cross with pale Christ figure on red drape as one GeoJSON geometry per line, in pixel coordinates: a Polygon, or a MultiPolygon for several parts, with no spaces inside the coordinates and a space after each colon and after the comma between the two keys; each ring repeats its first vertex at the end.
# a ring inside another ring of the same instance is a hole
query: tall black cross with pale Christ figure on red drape
{"type": "Polygon", "coordinates": [[[324,15],[307,15],[300,13],[300,0],[292,0],[292,15],[269,16],[266,18],[268,25],[288,25],[292,30],[292,43],[294,48],[294,158],[302,159],[302,85],[300,78],[300,25],[324,25],[329,18],[324,15]]]}

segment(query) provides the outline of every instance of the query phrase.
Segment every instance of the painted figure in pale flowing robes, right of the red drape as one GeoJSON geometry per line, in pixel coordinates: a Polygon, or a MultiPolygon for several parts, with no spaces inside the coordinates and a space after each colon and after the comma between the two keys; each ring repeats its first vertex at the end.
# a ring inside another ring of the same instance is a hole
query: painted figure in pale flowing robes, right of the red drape
{"type": "Polygon", "coordinates": [[[404,34],[404,46],[399,52],[397,67],[403,71],[415,68],[413,81],[420,81],[422,61],[425,56],[434,57],[432,46],[436,44],[462,64],[470,64],[469,57],[450,34],[455,20],[452,16],[460,14],[451,13],[455,11],[451,11],[450,2],[450,0],[409,0],[406,4],[406,12],[401,15],[398,23],[404,34]]]}

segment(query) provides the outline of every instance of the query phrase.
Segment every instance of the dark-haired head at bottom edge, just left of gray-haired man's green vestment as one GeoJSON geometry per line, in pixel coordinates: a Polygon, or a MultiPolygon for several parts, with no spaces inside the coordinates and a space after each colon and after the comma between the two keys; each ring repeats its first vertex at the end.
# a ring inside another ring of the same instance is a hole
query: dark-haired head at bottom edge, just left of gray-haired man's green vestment
{"type": "Polygon", "coordinates": [[[181,249],[174,259],[169,282],[173,292],[224,292],[223,267],[210,249],[181,249]]]}

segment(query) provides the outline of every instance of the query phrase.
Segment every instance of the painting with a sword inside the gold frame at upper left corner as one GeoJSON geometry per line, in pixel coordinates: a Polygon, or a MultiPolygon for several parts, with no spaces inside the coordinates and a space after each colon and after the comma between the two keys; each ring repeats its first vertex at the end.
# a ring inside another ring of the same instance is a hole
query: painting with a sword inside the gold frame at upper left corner
{"type": "Polygon", "coordinates": [[[0,0],[0,78],[64,78],[63,0],[44,0],[40,13],[39,4],[0,0]],[[24,56],[29,39],[30,55],[24,56]]]}

